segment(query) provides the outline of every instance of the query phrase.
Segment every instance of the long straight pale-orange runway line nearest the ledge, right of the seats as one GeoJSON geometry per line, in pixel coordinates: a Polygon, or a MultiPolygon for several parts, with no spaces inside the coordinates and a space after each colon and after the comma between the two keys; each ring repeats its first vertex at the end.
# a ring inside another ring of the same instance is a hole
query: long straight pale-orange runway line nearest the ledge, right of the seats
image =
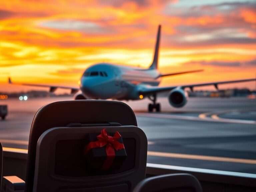
{"type": "Polygon", "coordinates": [[[222,162],[231,162],[231,163],[256,164],[255,159],[238,159],[238,158],[230,158],[230,157],[190,155],[190,154],[166,153],[166,152],[156,152],[156,151],[148,151],[148,155],[157,156],[157,157],[172,157],[172,158],[182,158],[182,159],[196,159],[196,160],[206,160],[206,161],[222,161],[222,162]]]}

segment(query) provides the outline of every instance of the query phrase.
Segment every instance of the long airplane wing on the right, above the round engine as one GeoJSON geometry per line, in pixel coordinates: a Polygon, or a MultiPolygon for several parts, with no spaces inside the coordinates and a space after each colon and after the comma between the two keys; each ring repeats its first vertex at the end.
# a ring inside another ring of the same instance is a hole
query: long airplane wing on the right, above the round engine
{"type": "Polygon", "coordinates": [[[210,83],[199,83],[199,84],[188,84],[188,85],[180,85],[180,86],[169,86],[169,87],[142,87],[139,90],[140,94],[149,95],[152,93],[164,92],[164,91],[171,91],[177,87],[181,89],[190,88],[193,91],[194,87],[200,86],[207,86],[207,85],[214,85],[216,89],[218,89],[219,84],[227,84],[227,83],[239,83],[239,82],[246,82],[246,81],[256,81],[256,79],[240,79],[240,80],[233,80],[233,81],[217,81],[217,82],[210,82],[210,83]]]}

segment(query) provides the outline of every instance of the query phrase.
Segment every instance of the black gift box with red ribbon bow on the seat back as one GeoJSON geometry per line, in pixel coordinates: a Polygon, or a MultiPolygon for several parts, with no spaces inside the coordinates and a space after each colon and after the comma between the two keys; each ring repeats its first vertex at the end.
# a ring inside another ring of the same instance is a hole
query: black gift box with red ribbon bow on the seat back
{"type": "Polygon", "coordinates": [[[123,140],[118,132],[111,135],[107,135],[106,129],[101,130],[101,134],[88,134],[84,147],[88,170],[116,170],[121,167],[127,157],[123,140]]]}

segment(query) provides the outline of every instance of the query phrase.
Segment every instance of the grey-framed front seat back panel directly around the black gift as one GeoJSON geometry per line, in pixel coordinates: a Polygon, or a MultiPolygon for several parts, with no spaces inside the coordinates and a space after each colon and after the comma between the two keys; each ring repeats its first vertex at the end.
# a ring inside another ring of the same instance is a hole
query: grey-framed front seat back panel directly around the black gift
{"type": "Polygon", "coordinates": [[[56,127],[45,131],[38,140],[33,191],[128,192],[145,178],[147,139],[135,126],[56,127]],[[127,158],[117,170],[88,170],[83,158],[88,133],[118,131],[127,158]]]}

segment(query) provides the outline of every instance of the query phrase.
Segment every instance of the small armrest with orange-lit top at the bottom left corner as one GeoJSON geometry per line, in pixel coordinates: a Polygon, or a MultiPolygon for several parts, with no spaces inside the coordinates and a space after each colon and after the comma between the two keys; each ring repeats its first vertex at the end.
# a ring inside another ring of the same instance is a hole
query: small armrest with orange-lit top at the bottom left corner
{"type": "Polygon", "coordinates": [[[3,192],[24,192],[25,181],[17,176],[5,176],[2,179],[3,192]]]}

